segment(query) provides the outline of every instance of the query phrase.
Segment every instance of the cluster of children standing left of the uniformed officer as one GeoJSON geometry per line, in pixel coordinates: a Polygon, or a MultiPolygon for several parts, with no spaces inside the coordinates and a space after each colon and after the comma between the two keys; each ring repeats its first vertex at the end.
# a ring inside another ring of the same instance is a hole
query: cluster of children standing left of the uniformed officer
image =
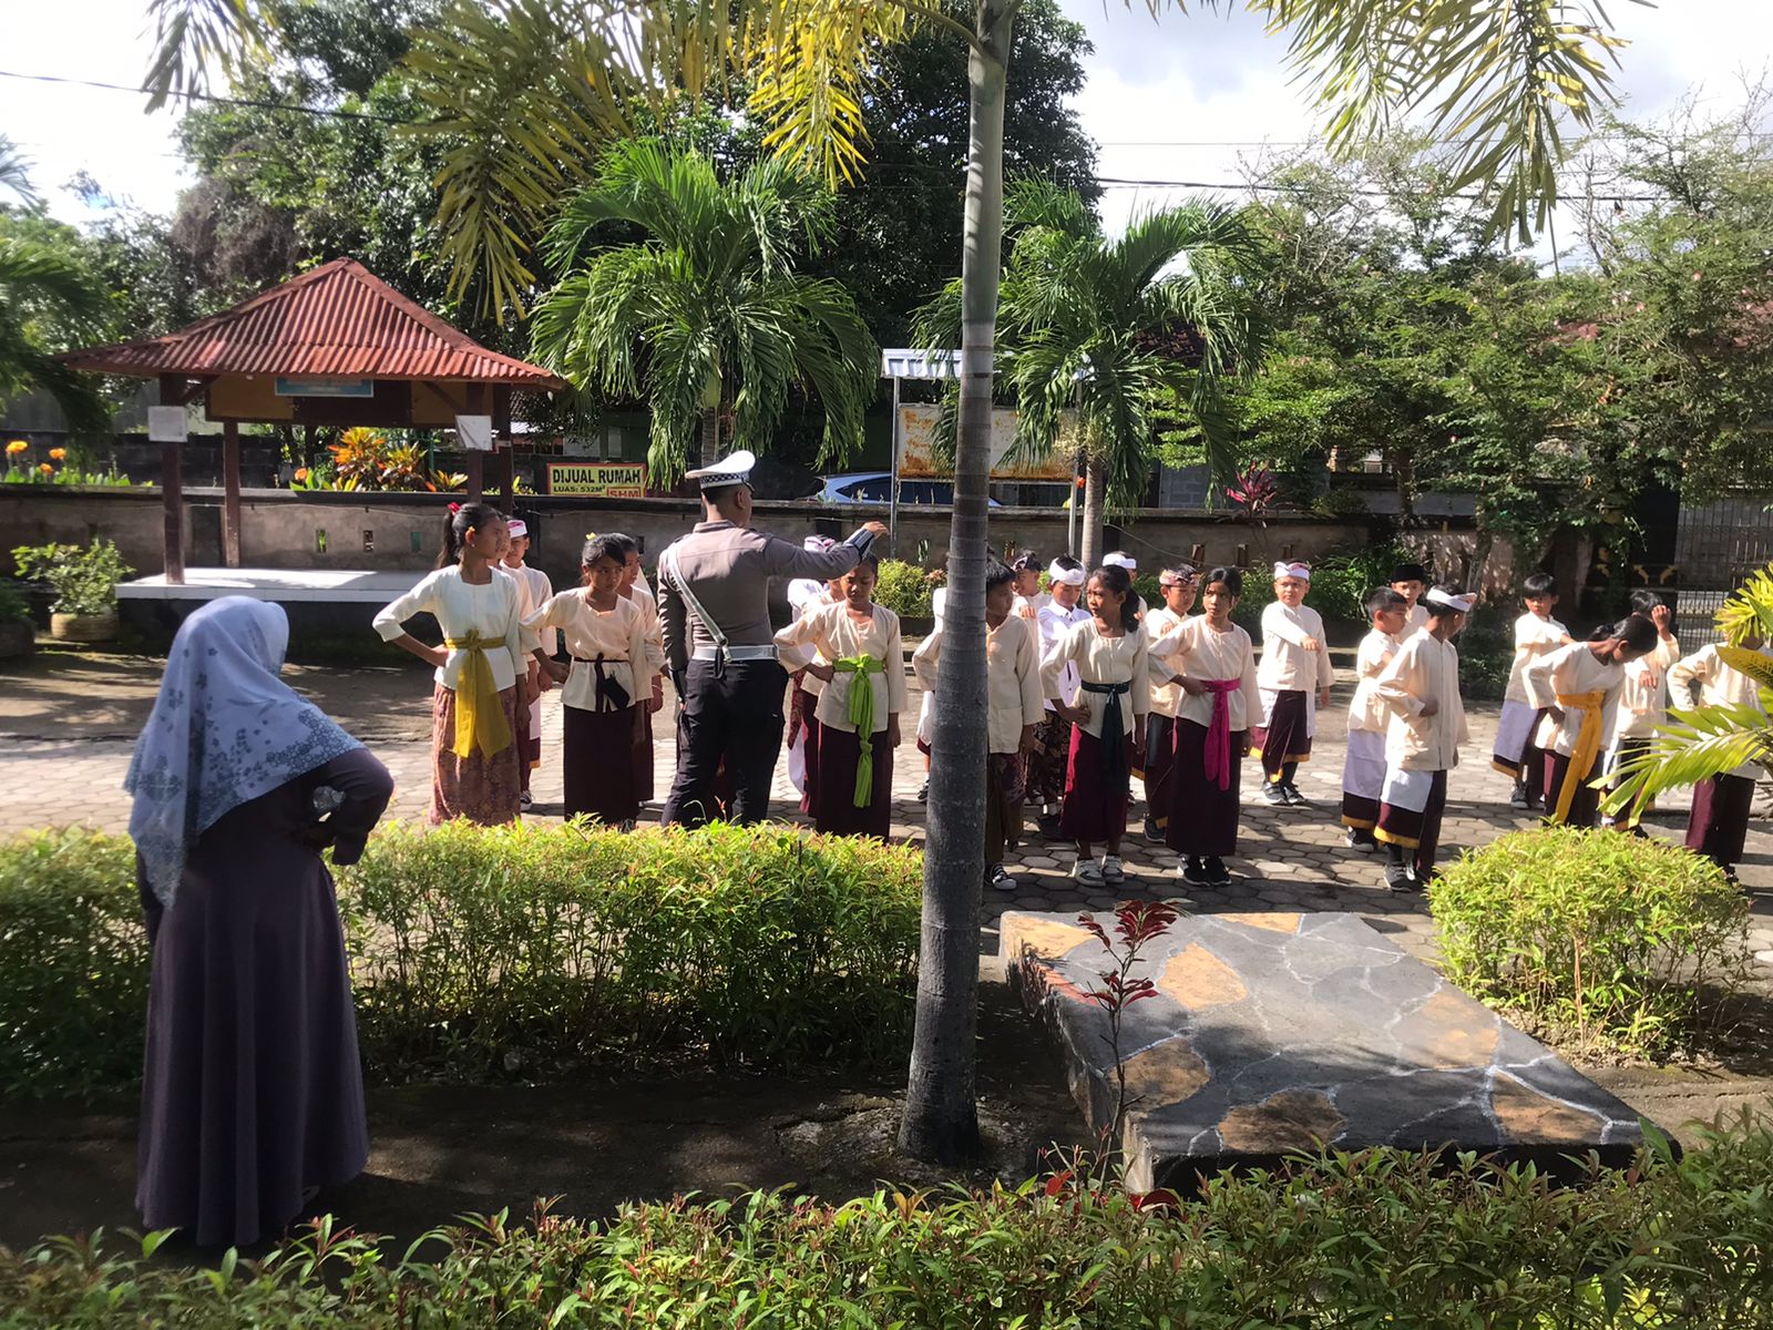
{"type": "Polygon", "coordinates": [[[383,640],[436,667],[431,821],[491,826],[530,807],[541,695],[558,685],[566,816],[633,825],[652,798],[652,713],[665,670],[640,544],[587,537],[580,585],[562,592],[525,564],[527,552],[523,521],[489,504],[450,504],[436,571],[376,614],[383,640]],[[406,631],[417,614],[436,619],[441,645],[406,631]]]}

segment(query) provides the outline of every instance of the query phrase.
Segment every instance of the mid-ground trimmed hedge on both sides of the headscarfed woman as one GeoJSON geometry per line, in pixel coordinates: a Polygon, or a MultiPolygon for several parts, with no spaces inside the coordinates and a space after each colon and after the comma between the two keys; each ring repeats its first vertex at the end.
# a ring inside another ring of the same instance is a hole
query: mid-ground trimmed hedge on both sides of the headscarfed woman
{"type": "MultiPolygon", "coordinates": [[[[339,872],[367,1073],[897,1059],[920,878],[911,848],[785,828],[392,825],[339,872]]],[[[0,1094],[135,1084],[147,972],[126,839],[0,844],[0,1094]]]]}

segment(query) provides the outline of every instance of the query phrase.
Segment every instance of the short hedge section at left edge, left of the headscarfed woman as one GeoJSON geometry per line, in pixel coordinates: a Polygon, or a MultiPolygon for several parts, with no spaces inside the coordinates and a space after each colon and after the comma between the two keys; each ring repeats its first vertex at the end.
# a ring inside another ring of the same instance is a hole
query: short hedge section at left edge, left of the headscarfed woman
{"type": "Polygon", "coordinates": [[[0,844],[0,1094],[137,1082],[147,972],[128,839],[55,830],[0,844]]]}

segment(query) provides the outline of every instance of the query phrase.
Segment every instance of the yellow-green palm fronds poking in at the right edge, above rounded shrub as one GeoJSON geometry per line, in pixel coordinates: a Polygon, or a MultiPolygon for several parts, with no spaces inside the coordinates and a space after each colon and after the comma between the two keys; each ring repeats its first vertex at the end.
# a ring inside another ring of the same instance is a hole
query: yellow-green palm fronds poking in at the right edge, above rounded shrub
{"type": "Polygon", "coordinates": [[[1619,787],[1606,798],[1608,812],[1629,803],[1640,809],[1668,789],[1697,786],[1748,763],[1773,771],[1773,661],[1746,642],[1773,642],[1773,564],[1750,573],[1718,610],[1718,647],[1723,663],[1761,686],[1761,706],[1668,708],[1656,739],[1619,766],[1619,787]]]}

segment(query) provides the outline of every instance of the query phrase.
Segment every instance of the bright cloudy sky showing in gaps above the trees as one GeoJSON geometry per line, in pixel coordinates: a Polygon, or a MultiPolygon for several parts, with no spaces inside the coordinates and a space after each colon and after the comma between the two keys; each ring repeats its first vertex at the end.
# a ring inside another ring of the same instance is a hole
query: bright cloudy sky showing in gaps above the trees
{"type": "MultiPolygon", "coordinates": [[[[1119,0],[1062,4],[1096,43],[1078,110],[1103,145],[1106,177],[1236,183],[1241,158],[1259,156],[1264,144],[1308,142],[1321,129],[1287,82],[1282,44],[1241,12],[1154,21],[1142,4],[1136,12],[1119,0]]],[[[1695,87],[1727,105],[1741,76],[1759,76],[1773,59],[1769,0],[1665,0],[1660,7],[1612,0],[1608,9],[1631,39],[1619,74],[1631,115],[1661,113],[1695,87]]],[[[135,92],[18,78],[138,83],[149,50],[142,0],[0,0],[0,135],[35,163],[51,211],[74,222],[87,215],[62,188],[78,170],[115,197],[168,209],[181,184],[172,115],[144,115],[135,92]]],[[[1110,227],[1167,193],[1110,188],[1110,227]]]]}

